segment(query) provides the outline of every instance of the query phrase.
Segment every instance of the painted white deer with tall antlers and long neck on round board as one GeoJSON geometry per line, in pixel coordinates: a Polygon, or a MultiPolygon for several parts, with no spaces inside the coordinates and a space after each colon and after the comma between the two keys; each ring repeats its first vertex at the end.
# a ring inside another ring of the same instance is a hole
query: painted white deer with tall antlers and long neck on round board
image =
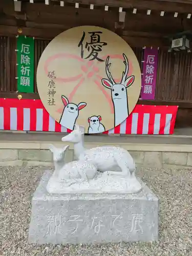
{"type": "Polygon", "coordinates": [[[111,63],[109,63],[110,56],[106,58],[105,64],[106,75],[109,79],[101,79],[103,86],[111,90],[111,97],[113,101],[115,114],[114,126],[117,126],[118,124],[122,123],[129,116],[129,105],[126,89],[130,87],[135,80],[135,76],[127,77],[127,74],[129,72],[129,62],[124,53],[123,57],[125,71],[123,72],[121,82],[116,83],[111,75],[111,72],[109,70],[111,66],[111,63]]]}

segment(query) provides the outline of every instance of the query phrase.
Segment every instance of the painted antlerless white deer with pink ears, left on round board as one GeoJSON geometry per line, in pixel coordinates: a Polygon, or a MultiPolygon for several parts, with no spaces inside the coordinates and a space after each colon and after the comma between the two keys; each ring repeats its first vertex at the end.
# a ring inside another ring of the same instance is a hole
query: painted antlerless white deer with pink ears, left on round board
{"type": "Polygon", "coordinates": [[[64,109],[60,118],[59,123],[65,126],[67,129],[73,130],[77,117],[79,116],[79,110],[86,107],[86,102],[80,102],[78,105],[75,103],[69,103],[66,96],[61,96],[62,103],[64,104],[64,109]]]}

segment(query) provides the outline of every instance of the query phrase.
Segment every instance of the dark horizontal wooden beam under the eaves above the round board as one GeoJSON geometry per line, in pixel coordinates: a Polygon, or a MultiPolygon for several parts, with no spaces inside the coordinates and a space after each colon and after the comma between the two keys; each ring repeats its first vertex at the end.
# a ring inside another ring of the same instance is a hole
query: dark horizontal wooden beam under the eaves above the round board
{"type": "MultiPolygon", "coordinates": [[[[31,20],[31,17],[34,16],[36,23],[46,23],[46,20],[48,20],[47,23],[70,24],[74,19],[76,26],[80,26],[83,25],[82,23],[86,20],[89,21],[90,24],[84,25],[94,25],[94,22],[98,22],[98,20],[100,20],[102,24],[111,22],[114,27],[114,23],[119,20],[118,10],[117,12],[110,12],[104,11],[104,8],[103,10],[94,9],[91,11],[88,8],[79,8],[78,15],[76,15],[75,8],[73,7],[60,8],[59,6],[46,6],[46,8],[44,8],[41,4],[29,5],[26,3],[25,11],[28,19],[31,20]]],[[[182,17],[184,28],[185,30],[190,30],[192,27],[192,19],[187,19],[187,15],[185,15],[185,17],[186,18],[182,17]]],[[[160,30],[165,35],[172,34],[183,29],[181,17],[174,18],[174,14],[172,16],[160,16],[159,12],[155,14],[152,13],[151,15],[146,15],[144,13],[137,13],[133,15],[131,12],[126,12],[125,28],[126,30],[133,30],[133,27],[135,31],[159,32],[160,30]]]]}

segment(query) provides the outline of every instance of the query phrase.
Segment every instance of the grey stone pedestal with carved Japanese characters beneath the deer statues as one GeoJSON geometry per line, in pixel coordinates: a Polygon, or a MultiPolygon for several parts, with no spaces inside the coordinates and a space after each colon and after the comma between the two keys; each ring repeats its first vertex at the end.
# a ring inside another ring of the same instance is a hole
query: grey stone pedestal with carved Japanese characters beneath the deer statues
{"type": "Polygon", "coordinates": [[[44,244],[154,241],[158,198],[143,185],[138,194],[51,195],[46,171],[32,199],[29,242],[44,244]]]}

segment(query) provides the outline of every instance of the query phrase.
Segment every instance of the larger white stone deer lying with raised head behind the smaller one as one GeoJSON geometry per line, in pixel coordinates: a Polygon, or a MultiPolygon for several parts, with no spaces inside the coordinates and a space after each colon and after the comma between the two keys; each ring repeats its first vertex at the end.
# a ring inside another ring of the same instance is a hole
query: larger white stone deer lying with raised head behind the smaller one
{"type": "Polygon", "coordinates": [[[135,176],[135,162],[129,152],[120,147],[101,146],[86,150],[83,147],[82,135],[79,126],[62,141],[74,143],[74,154],[77,159],[93,163],[99,172],[120,175],[125,177],[135,176]]]}

